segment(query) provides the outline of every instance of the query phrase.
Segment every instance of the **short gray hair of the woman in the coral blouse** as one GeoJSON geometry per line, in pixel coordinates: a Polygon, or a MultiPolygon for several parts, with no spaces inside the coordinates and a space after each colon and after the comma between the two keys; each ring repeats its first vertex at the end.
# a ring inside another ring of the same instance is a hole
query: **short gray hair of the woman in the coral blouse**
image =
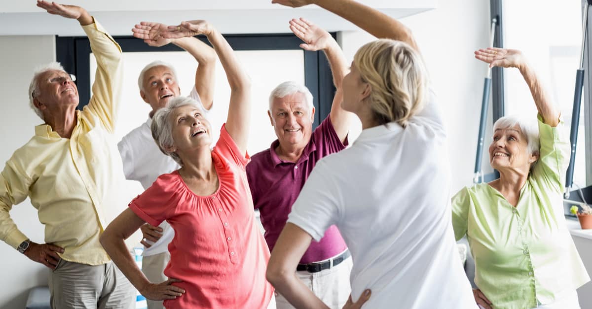
{"type": "Polygon", "coordinates": [[[184,107],[186,105],[191,105],[198,110],[201,110],[202,115],[206,117],[207,114],[199,101],[187,96],[177,96],[176,98],[171,99],[166,107],[156,111],[152,117],[152,125],[150,125],[152,138],[156,141],[160,151],[165,155],[172,157],[173,160],[181,166],[183,166],[183,162],[179,155],[174,152],[168,152],[166,149],[173,146],[173,123],[169,121],[170,114],[172,114],[176,108],[184,107]]]}

